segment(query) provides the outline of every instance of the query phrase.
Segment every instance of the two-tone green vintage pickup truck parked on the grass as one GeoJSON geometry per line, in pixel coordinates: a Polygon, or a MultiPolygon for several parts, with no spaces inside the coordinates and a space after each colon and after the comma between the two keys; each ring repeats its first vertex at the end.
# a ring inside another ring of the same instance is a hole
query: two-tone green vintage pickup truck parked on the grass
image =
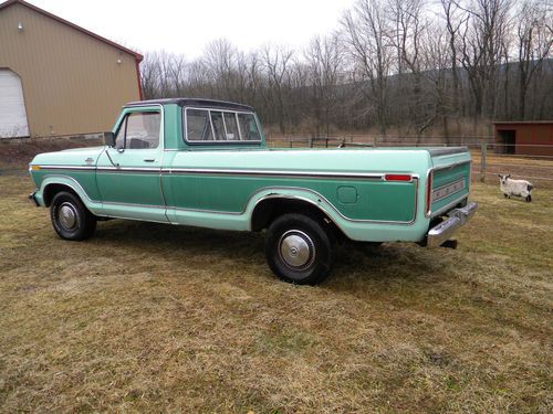
{"type": "Polygon", "coordinates": [[[265,231],[270,268],[295,284],[328,274],[336,241],[436,247],[477,210],[467,148],[267,148],[253,108],[229,102],[127,104],[105,144],[29,164],[60,237],[106,219],[265,231]]]}

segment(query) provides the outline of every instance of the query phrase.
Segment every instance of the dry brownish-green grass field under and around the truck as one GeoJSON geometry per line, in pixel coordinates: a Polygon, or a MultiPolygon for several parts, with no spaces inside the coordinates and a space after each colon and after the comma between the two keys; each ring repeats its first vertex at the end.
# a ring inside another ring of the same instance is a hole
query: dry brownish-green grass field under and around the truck
{"type": "Polygon", "coordinates": [[[279,282],[262,235],[114,220],[59,240],[0,174],[0,411],[547,413],[553,190],[474,184],[459,248],[338,248],[279,282]]]}

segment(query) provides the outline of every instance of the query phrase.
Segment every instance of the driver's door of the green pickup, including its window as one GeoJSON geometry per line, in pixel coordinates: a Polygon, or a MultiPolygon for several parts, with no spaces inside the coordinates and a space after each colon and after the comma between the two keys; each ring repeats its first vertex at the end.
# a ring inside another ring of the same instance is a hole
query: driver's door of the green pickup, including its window
{"type": "Polygon", "coordinates": [[[115,148],[98,158],[96,181],[106,215],[167,222],[160,187],[164,155],[161,108],[125,108],[115,148]]]}

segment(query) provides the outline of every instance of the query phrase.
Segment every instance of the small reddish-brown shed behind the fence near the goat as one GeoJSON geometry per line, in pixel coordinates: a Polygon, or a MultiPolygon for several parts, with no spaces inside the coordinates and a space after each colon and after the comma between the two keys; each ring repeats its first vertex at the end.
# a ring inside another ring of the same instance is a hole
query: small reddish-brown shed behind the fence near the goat
{"type": "Polygon", "coordinates": [[[493,121],[495,153],[553,156],[553,120],[493,121]]]}

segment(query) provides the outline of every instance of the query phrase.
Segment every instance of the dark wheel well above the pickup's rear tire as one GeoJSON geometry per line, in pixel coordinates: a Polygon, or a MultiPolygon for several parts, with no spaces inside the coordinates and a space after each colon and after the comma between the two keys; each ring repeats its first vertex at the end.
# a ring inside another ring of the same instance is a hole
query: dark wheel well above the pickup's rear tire
{"type": "Polygon", "coordinates": [[[301,213],[309,215],[312,219],[324,224],[325,227],[330,229],[336,236],[345,237],[343,232],[334,224],[334,222],[316,205],[296,199],[286,198],[274,198],[268,199],[255,205],[253,214],[251,217],[251,230],[253,232],[260,232],[263,229],[269,227],[269,225],[278,216],[286,213],[301,213]]]}

